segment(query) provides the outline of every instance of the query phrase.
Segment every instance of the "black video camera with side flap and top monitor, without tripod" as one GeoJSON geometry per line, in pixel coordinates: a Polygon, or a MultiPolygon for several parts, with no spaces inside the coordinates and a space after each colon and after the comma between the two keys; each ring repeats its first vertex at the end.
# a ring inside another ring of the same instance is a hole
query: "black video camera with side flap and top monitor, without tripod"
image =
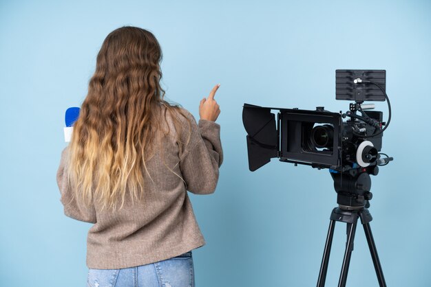
{"type": "Polygon", "coordinates": [[[385,123],[383,113],[368,111],[374,105],[364,101],[385,100],[385,88],[385,70],[337,70],[336,99],[355,101],[346,113],[332,113],[323,106],[311,111],[244,104],[249,169],[257,170],[277,157],[333,172],[367,168],[375,173],[369,169],[379,164],[385,123]],[[370,80],[377,87],[366,84],[370,80]]]}

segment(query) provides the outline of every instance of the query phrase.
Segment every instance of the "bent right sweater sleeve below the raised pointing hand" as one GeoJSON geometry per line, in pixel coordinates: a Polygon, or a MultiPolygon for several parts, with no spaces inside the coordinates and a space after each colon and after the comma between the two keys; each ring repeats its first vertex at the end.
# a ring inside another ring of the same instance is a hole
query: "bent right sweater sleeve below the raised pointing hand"
{"type": "MultiPolygon", "coordinates": [[[[187,112],[188,113],[188,112],[187,112]]],[[[217,187],[219,168],[223,161],[220,125],[196,119],[188,113],[191,134],[180,157],[180,170],[187,190],[194,194],[211,194],[217,187]]]]}

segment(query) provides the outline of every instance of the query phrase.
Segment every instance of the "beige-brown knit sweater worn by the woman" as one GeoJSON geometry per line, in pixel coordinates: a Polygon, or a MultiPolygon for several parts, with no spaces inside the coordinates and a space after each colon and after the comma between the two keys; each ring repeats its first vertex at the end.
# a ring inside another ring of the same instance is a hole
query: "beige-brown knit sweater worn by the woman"
{"type": "MultiPolygon", "coordinates": [[[[185,111],[185,110],[184,110],[185,111]]],[[[189,142],[183,152],[174,141],[164,141],[160,152],[147,161],[151,179],[144,172],[144,200],[132,205],[127,199],[123,209],[101,211],[72,197],[74,188],[67,184],[66,147],[56,174],[61,203],[66,216],[94,223],[87,236],[87,266],[118,269],[139,266],[180,255],[205,244],[187,195],[211,194],[218,182],[222,164],[220,126],[215,122],[191,119],[191,134],[185,128],[181,139],[189,142]],[[190,136],[190,137],[189,137],[190,136]],[[169,170],[169,168],[172,170],[169,170]]],[[[171,126],[171,119],[167,118],[171,126]]]]}

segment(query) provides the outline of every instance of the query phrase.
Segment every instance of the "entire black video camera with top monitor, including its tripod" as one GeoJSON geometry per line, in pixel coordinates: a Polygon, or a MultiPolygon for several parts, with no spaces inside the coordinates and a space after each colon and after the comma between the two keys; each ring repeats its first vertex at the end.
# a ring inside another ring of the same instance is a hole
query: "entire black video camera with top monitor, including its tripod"
{"type": "MultiPolygon", "coordinates": [[[[386,286],[368,224],[372,217],[367,209],[372,198],[370,174],[377,175],[380,165],[393,160],[380,152],[383,131],[388,128],[391,118],[390,101],[386,95],[386,71],[337,70],[335,77],[336,100],[355,101],[346,113],[331,113],[323,106],[308,111],[244,104],[242,121],[247,133],[249,169],[255,171],[276,157],[295,165],[328,168],[339,207],[330,217],[330,242],[326,242],[317,286],[324,286],[335,221],[346,222],[354,237],[358,217],[364,225],[370,250],[373,249],[372,258],[380,286],[386,286]],[[374,104],[364,104],[366,101],[385,100],[388,103],[388,122],[383,122],[381,111],[370,111],[375,108],[374,104]],[[271,110],[276,111],[277,118],[271,110]],[[347,119],[346,122],[343,119],[347,119]]],[[[351,246],[346,247],[348,258],[344,260],[339,286],[346,284],[353,237],[349,238],[351,246]]]]}

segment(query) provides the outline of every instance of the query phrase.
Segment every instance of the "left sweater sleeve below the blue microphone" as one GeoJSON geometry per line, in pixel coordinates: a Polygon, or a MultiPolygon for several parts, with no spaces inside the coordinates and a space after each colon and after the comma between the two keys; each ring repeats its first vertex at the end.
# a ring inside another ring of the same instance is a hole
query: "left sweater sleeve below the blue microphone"
{"type": "Polygon", "coordinates": [[[81,200],[77,200],[76,196],[74,196],[74,190],[67,180],[67,152],[68,146],[63,149],[63,152],[61,152],[59,170],[57,170],[56,174],[57,185],[59,185],[61,194],[60,201],[63,203],[64,214],[76,220],[96,223],[96,211],[94,209],[94,205],[87,207],[81,203],[81,200]]]}

